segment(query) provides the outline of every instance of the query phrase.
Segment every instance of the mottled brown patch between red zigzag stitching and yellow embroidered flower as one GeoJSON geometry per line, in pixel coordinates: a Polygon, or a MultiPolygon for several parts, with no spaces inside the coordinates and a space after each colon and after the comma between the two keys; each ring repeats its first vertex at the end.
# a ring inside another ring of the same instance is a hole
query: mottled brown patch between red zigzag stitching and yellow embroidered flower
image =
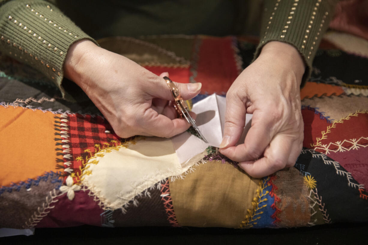
{"type": "Polygon", "coordinates": [[[303,176],[294,168],[276,172],[273,183],[277,186],[276,195],[281,199],[277,207],[281,210],[278,217],[279,227],[308,226],[311,221],[311,200],[309,189],[304,184],[303,176]]]}

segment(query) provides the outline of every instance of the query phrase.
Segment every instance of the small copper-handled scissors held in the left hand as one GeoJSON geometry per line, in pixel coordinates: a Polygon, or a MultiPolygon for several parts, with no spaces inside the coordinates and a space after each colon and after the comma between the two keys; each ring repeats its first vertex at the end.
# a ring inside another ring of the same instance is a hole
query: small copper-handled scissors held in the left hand
{"type": "Polygon", "coordinates": [[[208,144],[208,141],[206,140],[206,138],[201,134],[201,132],[199,131],[197,125],[195,125],[194,119],[190,116],[190,114],[187,110],[188,106],[185,103],[185,101],[183,100],[183,98],[181,97],[177,86],[173,83],[173,81],[171,81],[170,78],[163,77],[163,79],[165,79],[166,84],[169,86],[171,93],[173,93],[173,96],[174,96],[173,105],[174,105],[174,108],[177,111],[178,115],[180,117],[184,117],[185,120],[187,120],[187,122],[195,129],[195,131],[197,132],[199,138],[202,139],[202,141],[204,141],[208,144]]]}

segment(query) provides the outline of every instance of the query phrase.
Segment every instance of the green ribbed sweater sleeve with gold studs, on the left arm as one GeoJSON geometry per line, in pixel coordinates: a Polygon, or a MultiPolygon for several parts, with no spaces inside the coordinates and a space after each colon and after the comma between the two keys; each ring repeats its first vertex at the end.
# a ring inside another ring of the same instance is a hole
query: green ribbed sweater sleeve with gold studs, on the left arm
{"type": "Polygon", "coordinates": [[[65,99],[72,100],[61,86],[68,49],[78,40],[95,40],[43,0],[2,1],[0,36],[3,54],[39,70],[60,88],[65,99]]]}

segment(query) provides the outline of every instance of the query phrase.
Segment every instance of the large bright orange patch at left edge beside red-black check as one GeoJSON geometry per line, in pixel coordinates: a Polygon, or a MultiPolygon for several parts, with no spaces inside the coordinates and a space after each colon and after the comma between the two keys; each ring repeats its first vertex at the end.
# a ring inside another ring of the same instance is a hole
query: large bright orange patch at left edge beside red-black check
{"type": "Polygon", "coordinates": [[[0,186],[56,171],[54,114],[0,106],[0,115],[0,186]]]}

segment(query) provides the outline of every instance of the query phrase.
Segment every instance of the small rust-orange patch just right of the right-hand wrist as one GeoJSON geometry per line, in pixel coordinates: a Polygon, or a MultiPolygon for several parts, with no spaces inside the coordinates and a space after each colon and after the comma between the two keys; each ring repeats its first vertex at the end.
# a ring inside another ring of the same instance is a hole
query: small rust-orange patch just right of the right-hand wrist
{"type": "Polygon", "coordinates": [[[321,97],[322,95],[331,96],[333,94],[339,96],[344,93],[340,86],[331,84],[318,84],[316,82],[306,82],[300,90],[300,98],[311,98],[313,96],[321,97]]]}

